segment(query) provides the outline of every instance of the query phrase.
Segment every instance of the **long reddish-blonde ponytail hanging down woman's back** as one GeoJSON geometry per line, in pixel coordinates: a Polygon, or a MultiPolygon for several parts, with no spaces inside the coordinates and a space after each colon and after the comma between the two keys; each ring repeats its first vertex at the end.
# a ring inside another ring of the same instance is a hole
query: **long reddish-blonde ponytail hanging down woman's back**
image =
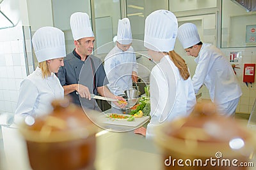
{"type": "Polygon", "coordinates": [[[179,54],[177,54],[174,50],[168,52],[170,59],[173,61],[176,67],[178,67],[180,71],[180,76],[184,80],[187,80],[190,76],[189,71],[188,71],[188,66],[182,57],[180,57],[179,54]]]}

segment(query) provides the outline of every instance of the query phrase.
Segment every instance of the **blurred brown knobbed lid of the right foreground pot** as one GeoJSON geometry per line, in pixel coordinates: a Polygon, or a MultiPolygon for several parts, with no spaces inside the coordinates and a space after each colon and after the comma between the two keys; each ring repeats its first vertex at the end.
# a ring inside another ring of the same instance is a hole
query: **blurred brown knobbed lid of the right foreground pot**
{"type": "Polygon", "coordinates": [[[249,155],[255,148],[255,135],[246,129],[246,124],[221,116],[212,103],[198,103],[189,117],[159,127],[156,141],[186,155],[218,151],[231,156],[234,152],[249,155]]]}

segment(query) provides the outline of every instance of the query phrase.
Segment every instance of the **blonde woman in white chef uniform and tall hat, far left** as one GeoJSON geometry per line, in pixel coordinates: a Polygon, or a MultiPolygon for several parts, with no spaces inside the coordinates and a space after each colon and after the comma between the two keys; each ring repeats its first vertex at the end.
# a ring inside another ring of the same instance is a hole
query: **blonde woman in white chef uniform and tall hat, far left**
{"type": "Polygon", "coordinates": [[[15,119],[49,113],[51,101],[64,97],[60,80],[54,74],[64,65],[64,33],[55,27],[42,27],[35,32],[32,43],[39,66],[20,83],[15,119]]]}

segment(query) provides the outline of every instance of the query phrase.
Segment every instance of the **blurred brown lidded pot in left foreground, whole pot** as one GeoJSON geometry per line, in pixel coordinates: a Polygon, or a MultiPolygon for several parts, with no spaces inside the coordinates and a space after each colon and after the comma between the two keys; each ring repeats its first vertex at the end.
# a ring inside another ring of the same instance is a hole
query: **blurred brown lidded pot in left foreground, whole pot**
{"type": "Polygon", "coordinates": [[[20,126],[32,169],[93,169],[95,125],[68,99],[54,101],[52,106],[51,114],[35,118],[33,125],[20,126]]]}

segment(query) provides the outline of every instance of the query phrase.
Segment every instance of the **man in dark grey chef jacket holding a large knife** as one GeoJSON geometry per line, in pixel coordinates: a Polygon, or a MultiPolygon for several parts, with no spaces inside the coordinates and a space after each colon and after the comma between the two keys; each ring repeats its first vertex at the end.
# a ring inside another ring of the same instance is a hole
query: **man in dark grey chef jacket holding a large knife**
{"type": "MultiPolygon", "coordinates": [[[[90,94],[99,93],[100,96],[125,101],[122,97],[112,94],[106,87],[108,80],[102,62],[92,55],[95,38],[88,14],[73,13],[70,17],[70,27],[75,49],[67,54],[65,65],[58,72],[64,94],[69,94],[75,104],[90,110],[99,110],[90,94]]],[[[125,104],[115,104],[120,108],[125,107],[125,104]]]]}

